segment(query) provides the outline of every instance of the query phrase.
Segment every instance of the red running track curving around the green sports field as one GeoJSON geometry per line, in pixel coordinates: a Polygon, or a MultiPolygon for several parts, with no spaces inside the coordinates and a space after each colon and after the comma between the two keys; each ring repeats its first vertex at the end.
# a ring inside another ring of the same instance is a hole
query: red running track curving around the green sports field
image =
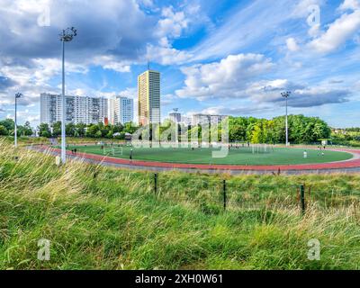
{"type": "MultiPolygon", "coordinates": [[[[42,150],[50,149],[51,151],[59,153],[58,148],[49,148],[47,146],[40,147],[42,150]]],[[[182,164],[182,163],[166,163],[154,161],[141,161],[121,159],[115,157],[100,156],[95,154],[87,154],[83,152],[76,153],[76,157],[91,159],[98,162],[119,164],[124,166],[143,166],[143,167],[161,167],[161,168],[177,168],[177,169],[201,169],[201,170],[248,170],[248,171],[274,171],[280,170],[323,170],[323,169],[341,169],[341,168],[356,168],[360,167],[360,150],[356,149],[333,149],[336,151],[349,152],[354,155],[350,160],[320,163],[320,164],[299,164],[299,165],[266,165],[266,166],[245,166],[245,165],[206,165],[206,164],[182,164]]],[[[74,156],[71,151],[67,151],[67,155],[74,156]]]]}

